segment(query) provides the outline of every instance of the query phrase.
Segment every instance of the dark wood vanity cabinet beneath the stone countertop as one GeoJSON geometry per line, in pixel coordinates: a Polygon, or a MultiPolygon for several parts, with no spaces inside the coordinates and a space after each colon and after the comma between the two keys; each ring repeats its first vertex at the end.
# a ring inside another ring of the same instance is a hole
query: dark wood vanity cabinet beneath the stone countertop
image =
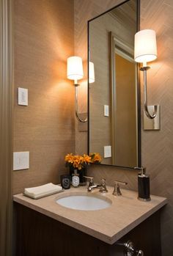
{"type": "MultiPolygon", "coordinates": [[[[124,256],[123,246],[110,245],[30,208],[14,203],[13,256],[124,256]]],[[[128,216],[127,216],[128,218],[128,216]]],[[[106,225],[106,223],[103,223],[106,225]]],[[[160,211],[125,235],[144,256],[161,256],[160,211]]]]}

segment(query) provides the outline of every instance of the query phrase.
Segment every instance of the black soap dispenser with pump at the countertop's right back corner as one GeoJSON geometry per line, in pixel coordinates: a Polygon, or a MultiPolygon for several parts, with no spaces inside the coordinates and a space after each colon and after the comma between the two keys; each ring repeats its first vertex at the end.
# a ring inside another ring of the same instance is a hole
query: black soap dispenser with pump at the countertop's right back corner
{"type": "Polygon", "coordinates": [[[137,167],[140,169],[138,175],[138,199],[142,201],[150,201],[150,176],[146,174],[146,168],[137,167]]]}

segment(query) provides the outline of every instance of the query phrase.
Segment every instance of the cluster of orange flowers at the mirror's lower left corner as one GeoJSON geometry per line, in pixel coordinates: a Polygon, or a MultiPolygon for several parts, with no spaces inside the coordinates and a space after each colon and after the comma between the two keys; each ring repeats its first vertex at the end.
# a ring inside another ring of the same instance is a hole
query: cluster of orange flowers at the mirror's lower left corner
{"type": "Polygon", "coordinates": [[[86,164],[100,164],[102,158],[99,153],[90,153],[84,155],[73,155],[73,153],[65,156],[65,162],[67,167],[73,167],[78,170],[85,167],[86,164]]]}

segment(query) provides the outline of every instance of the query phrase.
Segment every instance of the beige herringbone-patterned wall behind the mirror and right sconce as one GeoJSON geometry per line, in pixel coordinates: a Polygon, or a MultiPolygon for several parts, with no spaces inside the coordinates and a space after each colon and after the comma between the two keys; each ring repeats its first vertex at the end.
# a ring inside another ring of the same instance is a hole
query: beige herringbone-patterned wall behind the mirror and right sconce
{"type": "MultiPolygon", "coordinates": [[[[75,0],[76,54],[87,59],[87,21],[119,2],[118,0],[75,0]]],[[[142,129],[141,150],[142,164],[147,167],[151,175],[152,194],[169,199],[169,205],[163,211],[161,222],[163,256],[173,255],[172,10],[172,0],[141,0],[141,29],[155,29],[158,35],[158,59],[150,64],[152,69],[148,72],[148,89],[149,103],[161,104],[161,131],[142,129]]],[[[82,96],[86,98],[86,95],[82,96]]],[[[87,151],[86,137],[76,131],[78,152],[87,151]]],[[[133,171],[117,170],[114,167],[95,167],[90,169],[88,175],[94,175],[95,180],[105,177],[111,184],[115,179],[125,180],[128,181],[129,189],[137,189],[137,173],[133,171]]]]}

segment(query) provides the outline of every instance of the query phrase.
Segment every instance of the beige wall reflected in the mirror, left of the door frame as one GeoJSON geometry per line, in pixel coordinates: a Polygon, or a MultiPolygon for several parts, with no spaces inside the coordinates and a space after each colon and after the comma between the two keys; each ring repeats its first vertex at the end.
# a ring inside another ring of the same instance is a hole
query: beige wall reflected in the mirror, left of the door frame
{"type": "Polygon", "coordinates": [[[109,110],[111,108],[108,56],[110,23],[111,29],[114,28],[114,18],[104,15],[89,24],[89,61],[95,64],[95,83],[89,85],[89,122],[92,127],[89,131],[89,152],[100,153],[104,164],[111,164],[111,158],[104,158],[104,146],[111,145],[111,121],[110,117],[103,115],[104,105],[108,105],[109,110]]]}

